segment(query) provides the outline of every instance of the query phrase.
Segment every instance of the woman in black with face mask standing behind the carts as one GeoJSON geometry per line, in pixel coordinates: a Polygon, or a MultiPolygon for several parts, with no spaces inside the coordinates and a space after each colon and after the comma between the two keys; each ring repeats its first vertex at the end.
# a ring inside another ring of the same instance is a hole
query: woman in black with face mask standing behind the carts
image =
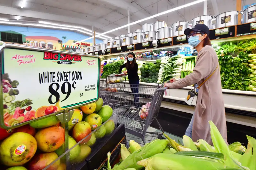
{"type": "Polygon", "coordinates": [[[132,90],[132,94],[134,96],[134,103],[131,106],[132,113],[137,112],[138,104],[139,104],[139,84],[140,78],[138,76],[138,64],[136,63],[135,54],[133,52],[128,53],[127,63],[123,64],[120,67],[119,73],[121,73],[122,69],[126,67],[126,71],[123,73],[128,75],[129,84],[132,90]]]}

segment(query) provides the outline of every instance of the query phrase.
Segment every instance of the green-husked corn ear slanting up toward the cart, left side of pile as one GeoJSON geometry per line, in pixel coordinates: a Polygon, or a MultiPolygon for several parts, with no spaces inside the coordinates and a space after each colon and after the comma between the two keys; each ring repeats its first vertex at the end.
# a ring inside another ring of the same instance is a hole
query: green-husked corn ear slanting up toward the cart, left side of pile
{"type": "Polygon", "coordinates": [[[130,156],[123,160],[119,165],[115,166],[113,170],[123,170],[127,168],[134,168],[140,170],[143,166],[137,164],[137,161],[149,158],[157,153],[163,152],[169,144],[168,140],[156,139],[147,145],[140,148],[138,151],[133,152],[130,156]]]}

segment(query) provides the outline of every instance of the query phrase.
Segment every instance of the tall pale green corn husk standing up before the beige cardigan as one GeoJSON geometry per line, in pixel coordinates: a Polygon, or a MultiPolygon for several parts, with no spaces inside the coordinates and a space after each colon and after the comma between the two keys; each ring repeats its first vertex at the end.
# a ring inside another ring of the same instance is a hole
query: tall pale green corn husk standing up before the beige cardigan
{"type": "Polygon", "coordinates": [[[209,121],[209,123],[211,128],[212,143],[216,152],[223,153],[226,156],[227,159],[224,162],[228,167],[236,168],[237,165],[233,161],[234,157],[230,153],[230,150],[228,149],[228,145],[226,144],[223,137],[221,136],[218,128],[215,126],[215,124],[212,121],[209,121]]]}

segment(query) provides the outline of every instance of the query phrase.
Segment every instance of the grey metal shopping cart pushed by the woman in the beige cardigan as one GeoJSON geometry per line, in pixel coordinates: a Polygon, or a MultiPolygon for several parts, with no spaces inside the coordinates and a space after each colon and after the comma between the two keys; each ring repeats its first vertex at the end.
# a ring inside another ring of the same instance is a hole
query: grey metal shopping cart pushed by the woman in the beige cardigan
{"type": "Polygon", "coordinates": [[[158,135],[162,135],[159,130],[148,132],[147,129],[155,120],[163,132],[156,118],[166,88],[163,85],[129,85],[125,79],[126,75],[108,76],[106,83],[100,85],[100,97],[104,105],[113,108],[113,114],[117,115],[117,122],[124,123],[125,132],[140,137],[145,144],[145,138],[147,141],[152,141],[158,135]],[[117,79],[118,81],[115,82],[114,80],[117,79]],[[146,108],[145,105],[148,102],[151,104],[146,108]],[[142,106],[148,111],[146,120],[140,118],[142,106]]]}

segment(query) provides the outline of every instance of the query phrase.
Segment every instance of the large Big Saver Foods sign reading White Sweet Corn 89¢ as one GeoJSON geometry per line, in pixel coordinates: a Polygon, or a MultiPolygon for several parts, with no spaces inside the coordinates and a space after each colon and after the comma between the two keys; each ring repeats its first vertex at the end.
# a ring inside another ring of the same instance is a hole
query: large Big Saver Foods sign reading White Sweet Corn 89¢
{"type": "Polygon", "coordinates": [[[6,45],[2,54],[2,125],[12,127],[99,98],[99,57],[17,45],[6,45]]]}

